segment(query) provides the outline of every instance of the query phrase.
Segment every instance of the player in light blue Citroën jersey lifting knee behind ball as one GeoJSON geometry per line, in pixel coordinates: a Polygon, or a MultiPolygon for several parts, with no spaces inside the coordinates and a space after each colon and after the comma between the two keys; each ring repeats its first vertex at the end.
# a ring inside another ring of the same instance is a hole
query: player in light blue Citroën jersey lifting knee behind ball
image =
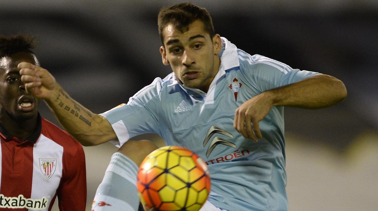
{"type": "Polygon", "coordinates": [[[283,106],[333,105],[346,97],[344,84],[237,49],[215,34],[206,9],[191,3],[162,9],[158,26],[162,61],[173,72],[100,115],[71,99],[46,69],[19,65],[26,88],[45,99],[77,140],[122,146],[93,209],[138,208],[136,172],[154,146],[128,140],[153,132],[207,162],[212,189],[201,210],[287,210],[283,106]]]}

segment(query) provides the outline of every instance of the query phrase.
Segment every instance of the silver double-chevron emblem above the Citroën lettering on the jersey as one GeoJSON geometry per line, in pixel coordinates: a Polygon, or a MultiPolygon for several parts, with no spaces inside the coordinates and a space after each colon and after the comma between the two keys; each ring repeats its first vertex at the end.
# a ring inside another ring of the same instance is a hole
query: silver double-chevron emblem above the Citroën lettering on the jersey
{"type": "MultiPolygon", "coordinates": [[[[206,134],[205,140],[203,140],[203,147],[205,147],[206,144],[209,142],[211,136],[214,135],[214,134],[216,134],[216,133],[228,136],[231,139],[234,138],[234,136],[232,136],[231,133],[225,131],[224,129],[222,129],[222,128],[218,127],[218,126],[213,125],[213,126],[210,127],[210,129],[208,131],[208,134],[206,134]]],[[[219,136],[215,136],[214,139],[212,139],[212,141],[210,142],[208,151],[206,151],[206,157],[209,157],[209,155],[212,152],[212,150],[218,144],[223,144],[223,145],[226,145],[226,146],[231,146],[232,148],[236,149],[236,145],[234,143],[232,143],[232,142],[230,142],[230,141],[228,141],[226,139],[223,139],[223,138],[221,138],[219,136]]]]}

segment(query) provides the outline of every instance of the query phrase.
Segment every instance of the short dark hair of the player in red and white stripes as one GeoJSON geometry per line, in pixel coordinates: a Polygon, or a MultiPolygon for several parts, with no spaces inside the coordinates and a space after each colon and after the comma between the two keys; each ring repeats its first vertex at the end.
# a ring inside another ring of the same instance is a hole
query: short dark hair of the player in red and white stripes
{"type": "Polygon", "coordinates": [[[12,55],[18,52],[30,52],[36,46],[35,36],[26,34],[3,36],[0,35],[0,57],[12,55]]]}

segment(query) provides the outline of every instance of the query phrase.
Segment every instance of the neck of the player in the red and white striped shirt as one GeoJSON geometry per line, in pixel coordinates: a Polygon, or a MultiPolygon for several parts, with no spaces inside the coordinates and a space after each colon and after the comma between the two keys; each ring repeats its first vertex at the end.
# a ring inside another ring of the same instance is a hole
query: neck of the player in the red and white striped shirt
{"type": "Polygon", "coordinates": [[[9,134],[16,137],[20,141],[25,140],[37,127],[38,115],[36,114],[31,119],[21,119],[17,120],[9,116],[8,113],[0,113],[0,125],[5,129],[9,134]]]}

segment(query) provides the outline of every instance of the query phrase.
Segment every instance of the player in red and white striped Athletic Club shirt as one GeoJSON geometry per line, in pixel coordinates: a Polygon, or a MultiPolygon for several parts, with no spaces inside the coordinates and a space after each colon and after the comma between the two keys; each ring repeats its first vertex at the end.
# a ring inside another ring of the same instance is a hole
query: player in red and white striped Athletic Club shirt
{"type": "Polygon", "coordinates": [[[82,146],[43,119],[39,99],[25,90],[17,65],[39,65],[30,36],[0,36],[0,208],[85,210],[82,146]]]}

